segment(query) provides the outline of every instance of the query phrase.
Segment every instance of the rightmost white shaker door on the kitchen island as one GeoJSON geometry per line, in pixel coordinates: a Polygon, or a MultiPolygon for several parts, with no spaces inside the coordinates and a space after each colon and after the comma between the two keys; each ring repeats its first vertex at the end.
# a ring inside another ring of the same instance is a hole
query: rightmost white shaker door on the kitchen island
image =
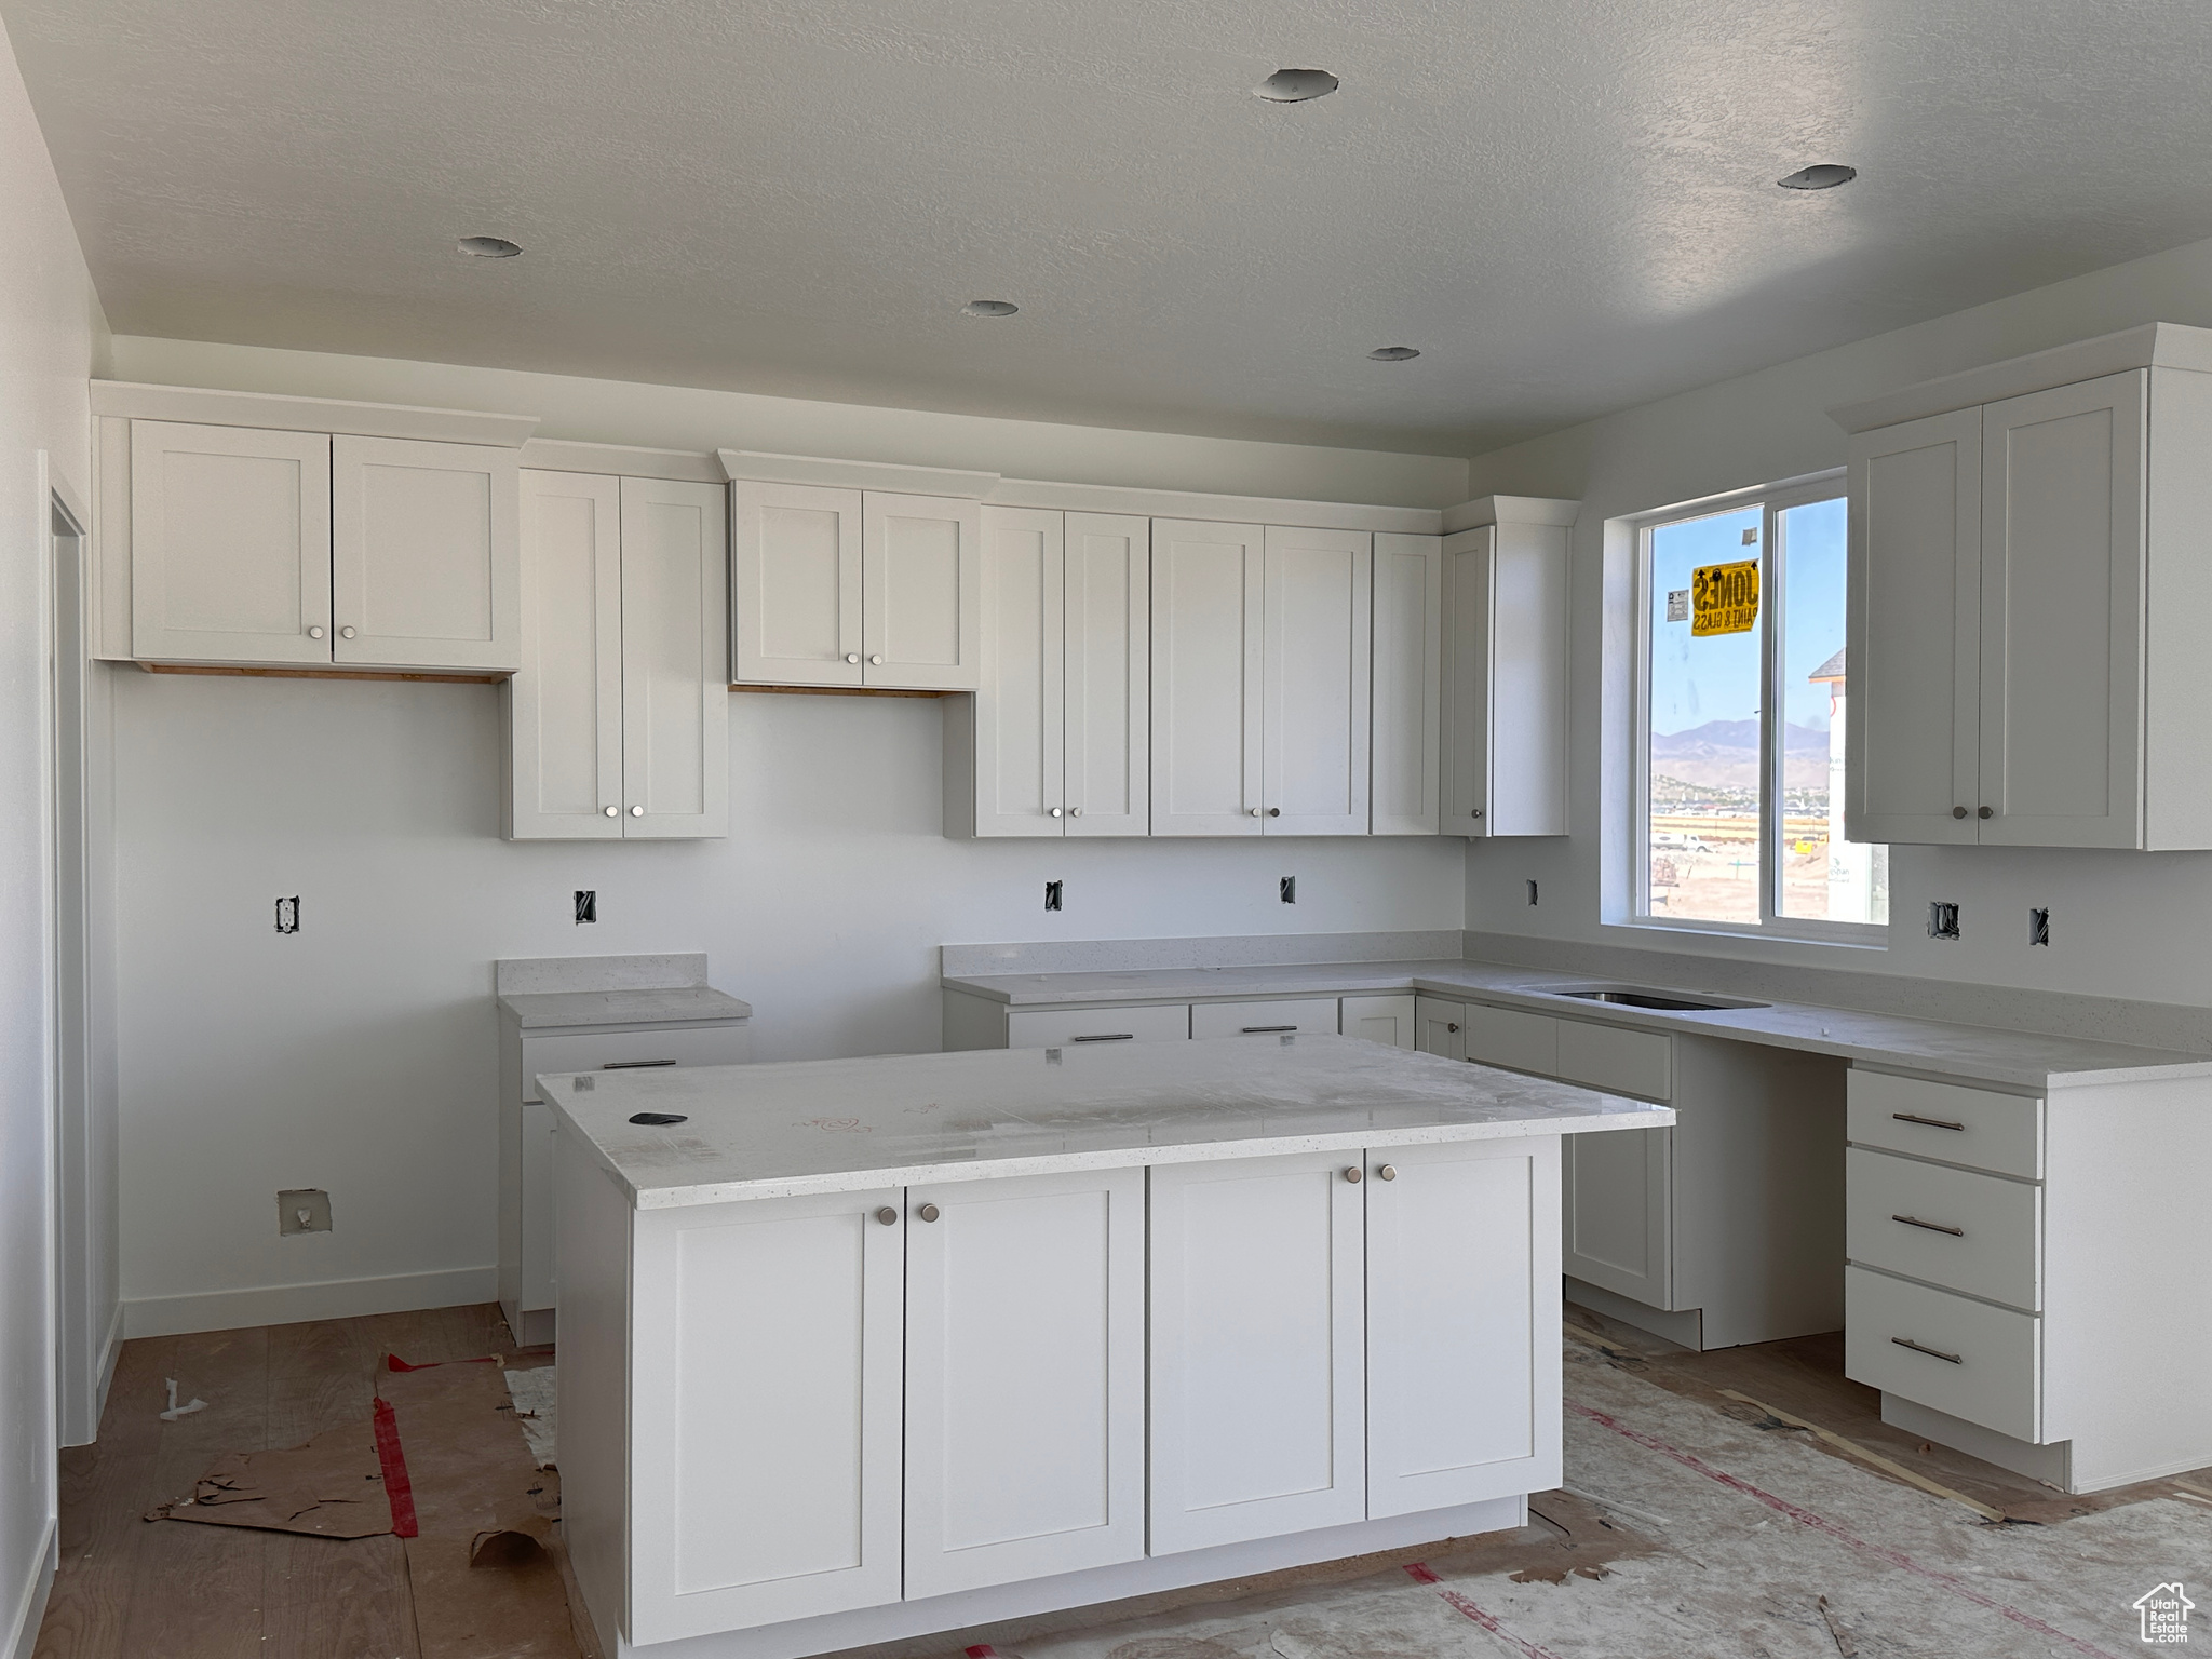
{"type": "Polygon", "coordinates": [[[1559,1139],[1367,1155],[1369,1517],[1559,1484],[1559,1139]]]}

